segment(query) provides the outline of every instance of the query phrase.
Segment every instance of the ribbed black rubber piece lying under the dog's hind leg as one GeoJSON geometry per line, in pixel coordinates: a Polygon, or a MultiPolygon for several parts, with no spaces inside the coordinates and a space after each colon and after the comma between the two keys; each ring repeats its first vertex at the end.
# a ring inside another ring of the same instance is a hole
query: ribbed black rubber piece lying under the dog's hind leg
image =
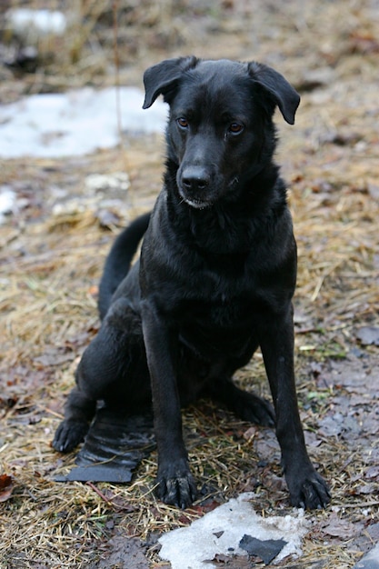
{"type": "Polygon", "coordinates": [[[151,414],[126,415],[108,407],[98,409],[68,474],[56,482],[127,483],[140,462],[155,448],[151,414]]]}

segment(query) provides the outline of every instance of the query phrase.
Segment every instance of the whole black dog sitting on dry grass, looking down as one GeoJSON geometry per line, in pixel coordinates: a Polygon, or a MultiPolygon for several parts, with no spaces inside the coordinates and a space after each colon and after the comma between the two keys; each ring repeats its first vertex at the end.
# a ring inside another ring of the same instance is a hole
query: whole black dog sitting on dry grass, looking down
{"type": "Polygon", "coordinates": [[[106,261],[103,324],[79,364],[55,449],[83,440],[96,400],[127,413],[153,397],[157,494],[184,508],[196,488],[180,406],[209,394],[245,420],[275,424],[292,504],[324,506],[329,492],[306,452],[297,408],[296,245],[273,163],[275,106],[292,125],[299,96],[256,63],[178,58],[144,78],[144,108],[161,94],[170,105],[165,185],[150,220],[130,225],[106,261]],[[232,382],[258,346],[275,412],[232,382]]]}

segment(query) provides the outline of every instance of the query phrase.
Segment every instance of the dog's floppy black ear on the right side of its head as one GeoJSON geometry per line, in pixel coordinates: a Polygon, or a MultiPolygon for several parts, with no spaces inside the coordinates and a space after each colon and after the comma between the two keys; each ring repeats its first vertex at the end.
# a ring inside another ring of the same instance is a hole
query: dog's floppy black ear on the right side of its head
{"type": "Polygon", "coordinates": [[[290,125],[294,125],[294,114],[300,103],[300,95],[294,87],[288,83],[284,76],[267,65],[251,62],[248,64],[249,75],[264,87],[278,105],[284,120],[290,125]]]}

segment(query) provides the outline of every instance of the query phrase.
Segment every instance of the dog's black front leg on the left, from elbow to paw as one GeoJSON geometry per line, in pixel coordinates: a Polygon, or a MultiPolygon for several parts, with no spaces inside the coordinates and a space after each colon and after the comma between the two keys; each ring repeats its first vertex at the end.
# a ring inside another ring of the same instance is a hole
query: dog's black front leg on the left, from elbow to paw
{"type": "Polygon", "coordinates": [[[143,303],[142,319],[158,447],[156,494],[165,504],[184,509],[194,502],[196,485],[189,469],[182,434],[176,384],[178,335],[148,301],[143,303]]]}

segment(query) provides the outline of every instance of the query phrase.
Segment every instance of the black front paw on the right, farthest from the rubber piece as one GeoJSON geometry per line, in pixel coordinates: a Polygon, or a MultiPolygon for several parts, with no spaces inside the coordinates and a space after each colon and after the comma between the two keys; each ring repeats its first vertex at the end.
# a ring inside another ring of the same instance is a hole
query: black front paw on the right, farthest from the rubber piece
{"type": "Polygon", "coordinates": [[[324,478],[314,468],[307,475],[286,476],[291,504],[298,508],[314,510],[324,508],[330,502],[330,492],[324,478]]]}

